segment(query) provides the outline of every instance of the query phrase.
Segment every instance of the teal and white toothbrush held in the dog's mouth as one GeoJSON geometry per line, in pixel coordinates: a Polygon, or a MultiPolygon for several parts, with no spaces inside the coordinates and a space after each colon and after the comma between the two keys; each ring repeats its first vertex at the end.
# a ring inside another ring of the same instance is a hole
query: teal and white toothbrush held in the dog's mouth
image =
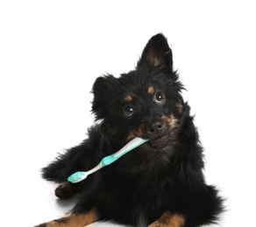
{"type": "Polygon", "coordinates": [[[68,176],[68,182],[72,182],[72,183],[81,182],[88,175],[96,172],[99,169],[102,169],[105,166],[110,165],[113,162],[116,162],[118,158],[122,157],[132,149],[139,147],[141,144],[145,143],[146,141],[148,140],[143,140],[139,137],[135,137],[134,139],[132,139],[132,141],[129,141],[128,143],[126,143],[123,148],[118,150],[117,153],[104,157],[103,160],[94,169],[90,169],[87,172],[82,172],[82,171],[75,172],[75,174],[68,176]]]}

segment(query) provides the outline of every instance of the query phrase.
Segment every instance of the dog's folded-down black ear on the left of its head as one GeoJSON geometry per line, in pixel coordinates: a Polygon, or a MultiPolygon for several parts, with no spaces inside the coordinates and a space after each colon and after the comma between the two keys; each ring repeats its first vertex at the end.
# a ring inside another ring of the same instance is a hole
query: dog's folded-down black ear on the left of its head
{"type": "Polygon", "coordinates": [[[117,79],[112,75],[99,77],[92,88],[94,99],[92,101],[92,112],[96,114],[96,120],[103,120],[110,113],[110,103],[115,99],[117,92],[117,79]]]}

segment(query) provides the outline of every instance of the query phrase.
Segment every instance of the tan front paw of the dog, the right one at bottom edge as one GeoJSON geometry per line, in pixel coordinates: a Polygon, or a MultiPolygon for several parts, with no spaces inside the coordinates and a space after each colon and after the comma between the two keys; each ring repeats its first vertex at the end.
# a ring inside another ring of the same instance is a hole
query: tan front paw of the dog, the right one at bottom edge
{"type": "Polygon", "coordinates": [[[164,214],[153,224],[148,227],[182,227],[185,224],[185,217],[178,214],[171,214],[171,212],[166,211],[164,214]]]}

